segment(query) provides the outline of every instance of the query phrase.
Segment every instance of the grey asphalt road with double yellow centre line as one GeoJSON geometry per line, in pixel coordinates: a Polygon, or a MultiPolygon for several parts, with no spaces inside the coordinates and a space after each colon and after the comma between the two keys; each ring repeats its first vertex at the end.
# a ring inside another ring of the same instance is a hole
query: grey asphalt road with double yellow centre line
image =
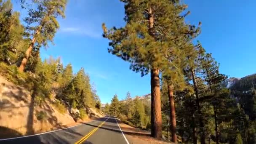
{"type": "Polygon", "coordinates": [[[102,117],[59,131],[0,140],[0,144],[129,144],[115,117],[102,117]]]}

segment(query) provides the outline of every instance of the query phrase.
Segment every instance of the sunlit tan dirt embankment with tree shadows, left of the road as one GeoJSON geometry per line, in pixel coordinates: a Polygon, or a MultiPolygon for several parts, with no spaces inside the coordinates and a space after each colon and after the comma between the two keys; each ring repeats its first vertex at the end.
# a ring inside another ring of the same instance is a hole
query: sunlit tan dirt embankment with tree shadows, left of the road
{"type": "Polygon", "coordinates": [[[0,139],[76,124],[68,110],[60,113],[48,100],[37,105],[25,88],[16,86],[0,76],[0,139]]]}

